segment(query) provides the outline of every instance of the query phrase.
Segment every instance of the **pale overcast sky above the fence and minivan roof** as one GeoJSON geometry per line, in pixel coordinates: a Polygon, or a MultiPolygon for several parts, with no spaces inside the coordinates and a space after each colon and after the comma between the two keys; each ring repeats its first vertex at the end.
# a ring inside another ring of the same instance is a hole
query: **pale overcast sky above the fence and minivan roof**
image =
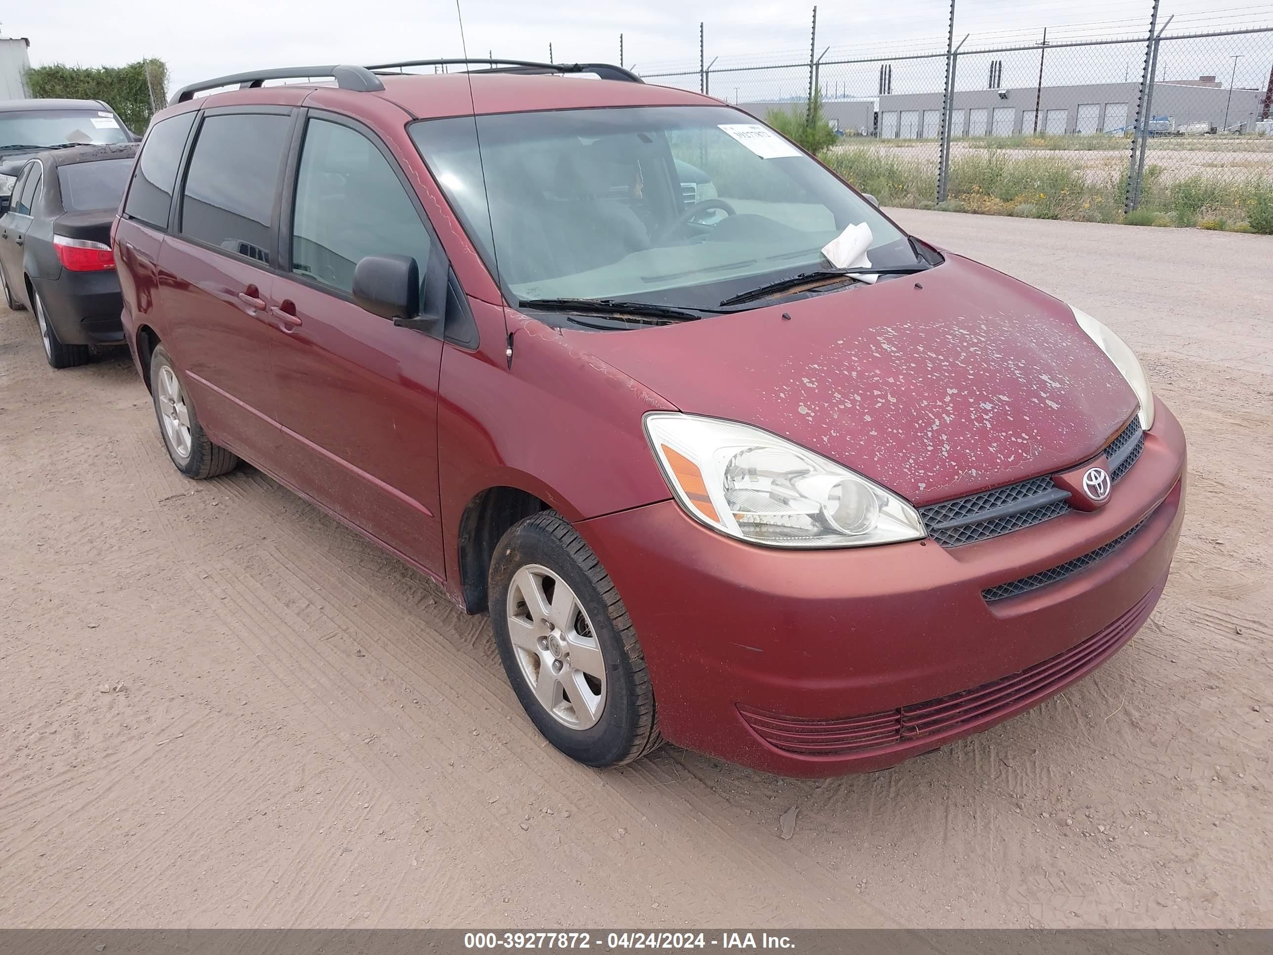
{"type": "MultiPolygon", "coordinates": [[[[552,43],[559,62],[617,61],[619,34],[624,33],[624,60],[640,73],[659,64],[693,67],[698,62],[699,20],[707,24],[707,59],[719,56],[719,65],[807,59],[811,8],[777,0],[461,0],[471,56],[493,50],[496,55],[544,60],[552,43]]],[[[827,46],[867,55],[945,47],[948,9],[941,0],[878,5],[824,1],[819,9],[819,52],[827,46]]],[[[969,32],[974,34],[969,48],[1030,41],[1044,25],[1050,27],[1053,39],[1129,36],[1143,33],[1150,9],[1148,0],[959,0],[956,41],[969,32]]],[[[1172,31],[1273,24],[1273,3],[1254,0],[1162,0],[1160,23],[1172,13],[1172,31]]],[[[462,51],[453,0],[378,0],[365,5],[348,0],[52,0],[9,5],[0,32],[31,39],[32,65],[118,65],[158,56],[169,65],[171,89],[253,67],[383,62],[460,56],[462,51]]],[[[1217,47],[1209,59],[1221,60],[1227,48],[1217,47]]],[[[1234,51],[1250,53],[1239,61],[1239,85],[1263,85],[1273,38],[1263,37],[1234,51]]],[[[1209,65],[1209,59],[1202,65],[1209,65]]],[[[1223,65],[1221,61],[1212,71],[1223,65]]],[[[1181,69],[1185,66],[1193,64],[1181,64],[1181,69]]],[[[1122,59],[1105,66],[1119,79],[1127,69],[1122,59]]],[[[722,80],[712,92],[732,99],[731,90],[723,87],[733,83],[722,80]]]]}

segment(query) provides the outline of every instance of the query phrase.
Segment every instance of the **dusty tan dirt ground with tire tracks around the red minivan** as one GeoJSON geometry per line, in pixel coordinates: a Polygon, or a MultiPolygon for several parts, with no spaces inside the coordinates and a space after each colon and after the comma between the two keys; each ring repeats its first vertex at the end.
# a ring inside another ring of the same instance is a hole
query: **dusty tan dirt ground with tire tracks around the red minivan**
{"type": "Polygon", "coordinates": [[[1130,340],[1188,518],[1100,671],[826,782],[570,763],[485,618],[251,467],[181,478],[125,357],[52,372],[0,312],[0,926],[1273,926],[1273,239],[897,218],[1130,340]]]}

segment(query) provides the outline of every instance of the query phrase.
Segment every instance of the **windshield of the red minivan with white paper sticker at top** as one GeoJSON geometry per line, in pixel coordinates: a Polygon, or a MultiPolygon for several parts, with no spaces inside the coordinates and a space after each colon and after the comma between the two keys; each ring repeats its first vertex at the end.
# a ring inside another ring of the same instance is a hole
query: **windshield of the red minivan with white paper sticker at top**
{"type": "Polygon", "coordinates": [[[869,202],[728,107],[479,116],[476,134],[480,157],[472,117],[411,126],[517,301],[712,309],[765,281],[830,267],[822,246],[859,223],[871,228],[873,266],[917,264],[869,202]]]}

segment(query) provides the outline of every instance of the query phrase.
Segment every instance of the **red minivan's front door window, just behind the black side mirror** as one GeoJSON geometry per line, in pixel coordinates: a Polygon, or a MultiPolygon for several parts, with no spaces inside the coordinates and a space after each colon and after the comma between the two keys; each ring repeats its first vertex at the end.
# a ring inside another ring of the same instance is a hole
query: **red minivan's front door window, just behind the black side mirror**
{"type": "Polygon", "coordinates": [[[311,120],[292,219],[292,271],[342,292],[363,256],[412,256],[424,279],[429,233],[393,167],[367,136],[311,120]]]}

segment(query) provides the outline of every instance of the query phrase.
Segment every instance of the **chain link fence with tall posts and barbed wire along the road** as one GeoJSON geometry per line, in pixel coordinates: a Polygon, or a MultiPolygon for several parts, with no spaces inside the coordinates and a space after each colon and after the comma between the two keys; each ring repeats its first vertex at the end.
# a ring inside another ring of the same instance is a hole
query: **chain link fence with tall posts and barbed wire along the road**
{"type": "Polygon", "coordinates": [[[816,89],[885,205],[1273,233],[1273,28],[951,46],[639,73],[763,120],[816,89]]]}

